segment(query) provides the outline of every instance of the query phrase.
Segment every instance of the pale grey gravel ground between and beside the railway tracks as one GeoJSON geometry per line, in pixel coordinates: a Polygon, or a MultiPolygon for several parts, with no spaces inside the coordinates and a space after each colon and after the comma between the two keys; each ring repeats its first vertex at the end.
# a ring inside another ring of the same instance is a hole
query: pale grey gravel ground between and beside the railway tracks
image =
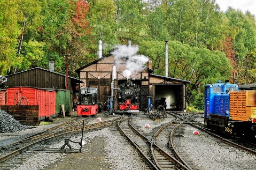
{"type": "MultiPolygon", "coordinates": [[[[143,114],[143,113],[139,113],[143,114]]],[[[170,122],[171,118],[150,120],[149,118],[140,118],[133,116],[133,124],[140,126],[140,130],[149,133],[155,126],[170,122]],[[149,124],[150,128],[145,128],[149,124]]],[[[95,116],[94,121],[101,118],[104,121],[103,114],[95,116]]],[[[66,121],[61,119],[60,121],[66,121]]],[[[46,129],[49,126],[55,126],[59,122],[50,125],[38,126],[36,128],[20,131],[19,133],[0,133],[0,144],[11,137],[22,138],[31,133],[46,129]],[[4,138],[4,139],[2,139],[4,138]]],[[[203,132],[194,135],[193,127],[185,128],[184,139],[181,141],[184,150],[190,158],[200,167],[199,170],[254,170],[256,165],[256,156],[235,149],[230,150],[218,144],[212,138],[206,137],[203,132]]],[[[14,140],[14,139],[12,139],[14,140]]],[[[73,141],[80,141],[81,138],[71,138],[73,141]]],[[[136,165],[142,164],[134,151],[133,147],[125,144],[127,140],[120,133],[113,132],[113,128],[107,127],[94,132],[84,133],[85,146],[82,153],[59,154],[59,153],[36,153],[23,165],[12,170],[138,170],[136,165]]],[[[60,148],[64,141],[52,146],[60,148]]],[[[80,149],[78,144],[70,143],[72,148],[80,149]]],[[[140,170],[147,170],[141,166],[140,170]]]]}

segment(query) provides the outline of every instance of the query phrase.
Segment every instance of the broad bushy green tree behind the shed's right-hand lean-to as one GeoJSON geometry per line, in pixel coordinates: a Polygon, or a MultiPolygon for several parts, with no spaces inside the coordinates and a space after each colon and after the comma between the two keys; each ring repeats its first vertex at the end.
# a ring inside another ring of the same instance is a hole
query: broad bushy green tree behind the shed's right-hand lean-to
{"type": "MultiPolygon", "coordinates": [[[[140,43],[139,52],[152,60],[154,74],[164,75],[164,48],[163,41],[142,41],[140,43]]],[[[168,42],[168,60],[170,77],[191,81],[187,85],[189,104],[198,102],[195,100],[202,95],[204,84],[226,80],[233,70],[225,53],[192,47],[178,41],[168,42]]]]}

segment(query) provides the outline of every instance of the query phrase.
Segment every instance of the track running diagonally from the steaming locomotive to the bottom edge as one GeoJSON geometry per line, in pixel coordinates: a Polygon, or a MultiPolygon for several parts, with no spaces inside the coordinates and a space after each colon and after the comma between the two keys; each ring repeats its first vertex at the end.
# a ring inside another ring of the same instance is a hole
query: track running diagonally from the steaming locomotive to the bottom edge
{"type": "Polygon", "coordinates": [[[180,163],[176,158],[166,153],[163,149],[155,145],[150,139],[139,133],[131,125],[132,115],[129,122],[120,121],[118,127],[122,133],[129,139],[150,164],[151,169],[163,170],[176,168],[177,170],[189,170],[185,165],[180,163]],[[156,156],[157,155],[157,156],[156,156]],[[165,163],[160,163],[160,162],[165,163]]]}

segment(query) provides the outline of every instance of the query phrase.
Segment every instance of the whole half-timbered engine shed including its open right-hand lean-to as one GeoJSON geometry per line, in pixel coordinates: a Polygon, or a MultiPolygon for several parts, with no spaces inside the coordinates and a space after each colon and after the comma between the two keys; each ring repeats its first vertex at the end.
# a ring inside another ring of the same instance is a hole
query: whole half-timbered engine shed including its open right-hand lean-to
{"type": "Polygon", "coordinates": [[[80,80],[84,82],[79,84],[79,89],[87,86],[97,88],[98,102],[103,103],[103,110],[107,110],[106,101],[111,96],[114,98],[114,111],[117,110],[118,85],[130,79],[140,86],[141,111],[147,109],[148,97],[152,97],[154,108],[164,99],[166,109],[186,111],[186,84],[190,81],[153,74],[151,61],[143,65],[140,71],[127,77],[124,73],[127,59],[116,59],[113,51],[104,56],[99,54],[98,59],[76,70],[80,80]]]}

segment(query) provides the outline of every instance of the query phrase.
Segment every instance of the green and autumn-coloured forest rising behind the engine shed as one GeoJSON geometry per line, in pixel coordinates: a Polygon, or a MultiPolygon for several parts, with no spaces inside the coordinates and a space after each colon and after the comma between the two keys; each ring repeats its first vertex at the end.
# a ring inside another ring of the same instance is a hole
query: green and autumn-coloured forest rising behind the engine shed
{"type": "Polygon", "coordinates": [[[139,46],[165,75],[191,81],[187,104],[202,110],[205,84],[256,83],[256,18],[216,0],[0,0],[0,75],[34,67],[78,77],[79,67],[116,44],[139,46]]]}

